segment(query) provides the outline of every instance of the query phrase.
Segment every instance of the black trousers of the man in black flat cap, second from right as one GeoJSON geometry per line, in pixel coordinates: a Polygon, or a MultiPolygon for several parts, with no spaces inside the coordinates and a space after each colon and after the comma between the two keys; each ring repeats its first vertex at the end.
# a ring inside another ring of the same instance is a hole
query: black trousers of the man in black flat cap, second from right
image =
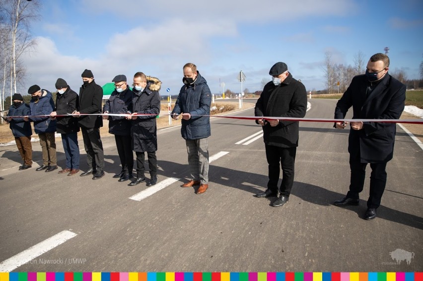
{"type": "Polygon", "coordinates": [[[282,148],[266,145],[266,159],[269,164],[269,182],[267,183],[267,187],[275,192],[278,190],[281,166],[282,183],[279,192],[286,197],[289,197],[289,194],[291,194],[294,183],[296,151],[296,147],[282,148]]]}

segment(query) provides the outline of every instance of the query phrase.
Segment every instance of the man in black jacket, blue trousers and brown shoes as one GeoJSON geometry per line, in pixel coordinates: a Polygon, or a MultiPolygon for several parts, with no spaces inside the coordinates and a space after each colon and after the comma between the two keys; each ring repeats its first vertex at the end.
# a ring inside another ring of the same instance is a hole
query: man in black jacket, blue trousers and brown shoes
{"type": "Polygon", "coordinates": [[[56,109],[50,113],[50,116],[57,118],[57,132],[62,134],[63,150],[66,155],[66,166],[59,173],[75,175],[79,172],[78,119],[71,115],[55,116],[66,115],[78,110],[78,94],[70,89],[68,83],[62,78],[57,79],[55,86],[57,89],[56,109]]]}

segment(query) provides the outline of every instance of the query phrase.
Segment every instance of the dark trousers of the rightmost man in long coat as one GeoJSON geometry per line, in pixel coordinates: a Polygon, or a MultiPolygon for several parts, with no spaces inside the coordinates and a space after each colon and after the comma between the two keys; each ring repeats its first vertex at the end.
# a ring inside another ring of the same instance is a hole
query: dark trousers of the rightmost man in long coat
{"type": "MultiPolygon", "coordinates": [[[[370,163],[370,195],[367,200],[367,208],[378,208],[386,186],[386,162],[370,163]]],[[[358,199],[358,193],[363,191],[364,179],[366,177],[367,163],[361,163],[360,154],[350,154],[350,191],[347,197],[358,199]]]]}

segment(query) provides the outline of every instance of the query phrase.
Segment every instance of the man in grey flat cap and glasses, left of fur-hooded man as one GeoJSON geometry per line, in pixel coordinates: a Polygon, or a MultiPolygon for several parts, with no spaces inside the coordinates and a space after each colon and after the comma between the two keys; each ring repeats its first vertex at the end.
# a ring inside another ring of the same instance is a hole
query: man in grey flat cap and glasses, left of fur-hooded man
{"type": "MultiPolygon", "coordinates": [[[[116,89],[106,101],[103,113],[128,113],[132,104],[132,91],[126,83],[126,76],[123,74],[116,75],[112,82],[115,83],[116,89]]],[[[122,166],[121,172],[113,177],[119,178],[119,182],[129,180],[132,178],[132,169],[134,168],[134,154],[131,147],[131,120],[124,116],[107,115],[103,115],[103,119],[109,119],[109,133],[115,135],[116,148],[122,166]]]]}

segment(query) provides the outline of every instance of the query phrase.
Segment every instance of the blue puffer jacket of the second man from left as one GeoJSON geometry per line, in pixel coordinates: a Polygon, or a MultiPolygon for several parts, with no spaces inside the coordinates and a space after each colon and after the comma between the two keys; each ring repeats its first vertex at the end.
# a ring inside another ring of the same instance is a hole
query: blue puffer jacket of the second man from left
{"type": "Polygon", "coordinates": [[[56,120],[50,119],[50,116],[32,117],[38,115],[50,115],[54,111],[54,102],[52,93],[47,90],[41,90],[41,97],[38,101],[31,99],[29,103],[31,115],[29,120],[34,122],[34,131],[36,134],[56,132],[56,120]]]}

